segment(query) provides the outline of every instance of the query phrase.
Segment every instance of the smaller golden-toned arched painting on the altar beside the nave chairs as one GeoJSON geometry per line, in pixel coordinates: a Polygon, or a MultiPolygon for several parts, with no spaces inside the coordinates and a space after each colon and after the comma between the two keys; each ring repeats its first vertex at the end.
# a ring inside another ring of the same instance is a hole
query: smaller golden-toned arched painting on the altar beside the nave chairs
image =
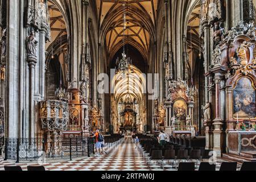
{"type": "Polygon", "coordinates": [[[177,123],[185,123],[187,115],[187,104],[183,100],[174,103],[174,115],[177,123]]]}

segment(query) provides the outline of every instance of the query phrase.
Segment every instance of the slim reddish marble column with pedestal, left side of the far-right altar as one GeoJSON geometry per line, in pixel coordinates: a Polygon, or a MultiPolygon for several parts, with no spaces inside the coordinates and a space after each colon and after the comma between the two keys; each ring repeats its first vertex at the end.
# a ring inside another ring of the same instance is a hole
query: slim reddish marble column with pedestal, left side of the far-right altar
{"type": "Polygon", "coordinates": [[[213,137],[214,137],[214,147],[213,150],[217,152],[217,156],[221,156],[222,145],[223,145],[223,120],[220,115],[220,82],[222,80],[222,76],[216,73],[214,77],[216,94],[215,94],[215,119],[213,120],[213,137]]]}

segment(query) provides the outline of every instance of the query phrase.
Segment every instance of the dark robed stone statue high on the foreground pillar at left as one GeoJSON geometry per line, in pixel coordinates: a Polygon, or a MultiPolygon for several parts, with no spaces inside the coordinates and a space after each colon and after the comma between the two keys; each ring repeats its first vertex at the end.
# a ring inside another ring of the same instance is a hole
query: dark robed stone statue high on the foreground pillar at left
{"type": "Polygon", "coordinates": [[[36,47],[38,46],[38,41],[35,38],[34,28],[30,29],[30,36],[27,38],[27,55],[28,57],[36,57],[36,47]]]}

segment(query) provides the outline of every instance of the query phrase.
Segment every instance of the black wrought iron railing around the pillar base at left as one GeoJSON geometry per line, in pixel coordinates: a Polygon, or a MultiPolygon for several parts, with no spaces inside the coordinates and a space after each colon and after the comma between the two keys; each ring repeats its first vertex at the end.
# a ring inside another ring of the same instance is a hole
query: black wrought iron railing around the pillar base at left
{"type": "Polygon", "coordinates": [[[94,153],[92,138],[6,138],[5,160],[36,161],[42,158],[60,160],[90,156],[94,153]]]}

